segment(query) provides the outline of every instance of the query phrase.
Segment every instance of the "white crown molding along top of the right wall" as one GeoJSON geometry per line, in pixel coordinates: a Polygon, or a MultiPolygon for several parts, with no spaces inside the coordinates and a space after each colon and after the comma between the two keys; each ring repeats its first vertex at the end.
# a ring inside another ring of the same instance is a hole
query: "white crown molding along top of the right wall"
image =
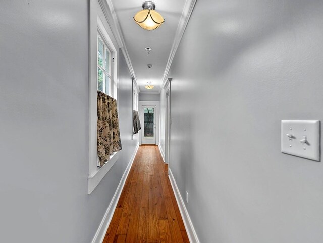
{"type": "Polygon", "coordinates": [[[167,60],[165,72],[163,75],[163,83],[160,85],[159,92],[161,92],[161,90],[163,89],[163,87],[165,85],[165,82],[167,81],[167,75],[170,71],[174,56],[176,54],[177,48],[178,48],[178,46],[181,42],[181,39],[183,37],[187,23],[191,17],[192,12],[193,12],[196,1],[197,0],[186,0],[180,22],[178,23],[178,26],[177,26],[177,31],[176,31],[176,35],[175,35],[174,42],[172,45],[172,49],[171,49],[170,55],[167,60]]]}

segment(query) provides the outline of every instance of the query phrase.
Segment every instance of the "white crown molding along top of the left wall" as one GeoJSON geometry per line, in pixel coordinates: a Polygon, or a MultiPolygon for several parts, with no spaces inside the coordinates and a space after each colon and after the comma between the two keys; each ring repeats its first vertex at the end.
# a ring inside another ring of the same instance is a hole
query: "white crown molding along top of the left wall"
{"type": "MultiPolygon", "coordinates": [[[[133,66],[132,66],[128,51],[127,51],[127,47],[125,44],[125,40],[123,38],[121,28],[119,25],[119,21],[118,21],[117,15],[116,15],[116,11],[112,5],[112,2],[111,2],[111,0],[98,0],[98,2],[101,5],[101,8],[102,8],[105,18],[107,20],[107,23],[109,24],[111,31],[117,40],[119,48],[121,49],[121,51],[126,59],[126,63],[129,68],[129,71],[130,71],[132,77],[136,78],[136,74],[133,69],[133,66]]],[[[137,82],[135,82],[135,84],[136,84],[137,89],[139,89],[137,82]]]]}

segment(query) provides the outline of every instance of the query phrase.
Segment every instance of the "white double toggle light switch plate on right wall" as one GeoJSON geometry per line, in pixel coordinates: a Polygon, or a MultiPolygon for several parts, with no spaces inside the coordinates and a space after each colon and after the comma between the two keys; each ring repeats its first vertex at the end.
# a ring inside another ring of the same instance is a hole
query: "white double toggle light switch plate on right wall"
{"type": "Polygon", "coordinates": [[[282,120],[282,153],[320,161],[319,120],[282,120]]]}

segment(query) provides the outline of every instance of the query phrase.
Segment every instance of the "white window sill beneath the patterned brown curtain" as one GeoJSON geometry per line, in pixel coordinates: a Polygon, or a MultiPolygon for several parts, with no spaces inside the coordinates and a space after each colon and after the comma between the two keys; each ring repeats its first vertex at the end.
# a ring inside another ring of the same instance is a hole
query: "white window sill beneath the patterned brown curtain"
{"type": "Polygon", "coordinates": [[[90,176],[87,177],[87,194],[91,194],[96,186],[100,183],[100,181],[104,178],[106,173],[112,168],[112,166],[117,162],[119,158],[119,152],[115,152],[110,156],[109,162],[104,164],[101,168],[97,171],[92,173],[90,176]]]}

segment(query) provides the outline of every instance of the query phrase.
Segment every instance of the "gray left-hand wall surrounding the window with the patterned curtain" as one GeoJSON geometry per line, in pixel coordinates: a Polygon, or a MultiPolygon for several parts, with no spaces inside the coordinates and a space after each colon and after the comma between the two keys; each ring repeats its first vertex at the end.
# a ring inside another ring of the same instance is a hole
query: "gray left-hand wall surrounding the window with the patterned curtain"
{"type": "Polygon", "coordinates": [[[0,22],[0,241],[89,243],[138,143],[125,60],[123,150],[87,195],[87,1],[2,1],[0,22]]]}

